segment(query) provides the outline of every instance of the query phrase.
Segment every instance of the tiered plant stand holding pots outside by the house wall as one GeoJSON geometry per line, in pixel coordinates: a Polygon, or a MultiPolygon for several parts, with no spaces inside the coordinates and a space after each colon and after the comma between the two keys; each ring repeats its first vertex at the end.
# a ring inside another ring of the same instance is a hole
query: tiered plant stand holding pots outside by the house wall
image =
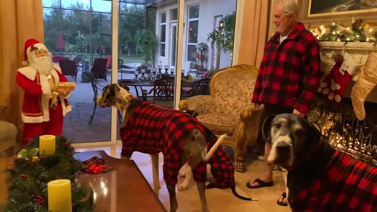
{"type": "Polygon", "coordinates": [[[196,77],[201,77],[205,71],[207,71],[207,59],[208,59],[208,45],[200,43],[195,46],[197,54],[193,54],[196,67],[190,65],[189,73],[196,74],[196,77]]]}

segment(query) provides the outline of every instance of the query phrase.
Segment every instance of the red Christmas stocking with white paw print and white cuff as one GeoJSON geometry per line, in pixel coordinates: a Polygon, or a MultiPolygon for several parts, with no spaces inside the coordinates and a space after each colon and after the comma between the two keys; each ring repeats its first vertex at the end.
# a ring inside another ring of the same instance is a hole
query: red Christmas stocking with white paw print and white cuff
{"type": "Polygon", "coordinates": [[[343,60],[337,60],[331,72],[319,84],[318,92],[325,95],[329,101],[339,103],[358,68],[356,61],[345,52],[343,60]]]}

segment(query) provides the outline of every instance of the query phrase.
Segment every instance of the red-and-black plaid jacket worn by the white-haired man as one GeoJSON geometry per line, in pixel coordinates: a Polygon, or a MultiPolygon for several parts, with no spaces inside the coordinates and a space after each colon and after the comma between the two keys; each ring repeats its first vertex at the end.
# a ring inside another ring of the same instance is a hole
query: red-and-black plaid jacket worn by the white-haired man
{"type": "Polygon", "coordinates": [[[307,114],[321,75],[319,41],[298,23],[282,43],[278,32],[268,41],[251,101],[307,114]]]}

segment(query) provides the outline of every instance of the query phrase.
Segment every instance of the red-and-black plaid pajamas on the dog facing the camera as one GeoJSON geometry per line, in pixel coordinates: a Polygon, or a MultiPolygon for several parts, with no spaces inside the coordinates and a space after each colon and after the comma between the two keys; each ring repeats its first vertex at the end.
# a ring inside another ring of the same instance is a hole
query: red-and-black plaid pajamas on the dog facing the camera
{"type": "Polygon", "coordinates": [[[325,172],[296,198],[288,198],[293,212],[377,211],[375,167],[338,150],[326,165],[325,172]]]}

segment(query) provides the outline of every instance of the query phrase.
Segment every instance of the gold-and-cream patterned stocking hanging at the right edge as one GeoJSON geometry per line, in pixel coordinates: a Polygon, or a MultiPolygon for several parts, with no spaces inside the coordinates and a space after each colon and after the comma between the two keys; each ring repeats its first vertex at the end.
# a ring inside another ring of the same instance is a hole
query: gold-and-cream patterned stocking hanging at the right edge
{"type": "Polygon", "coordinates": [[[364,101],[376,84],[377,54],[372,52],[363,66],[363,73],[360,74],[351,91],[352,106],[357,119],[365,119],[364,101]]]}

